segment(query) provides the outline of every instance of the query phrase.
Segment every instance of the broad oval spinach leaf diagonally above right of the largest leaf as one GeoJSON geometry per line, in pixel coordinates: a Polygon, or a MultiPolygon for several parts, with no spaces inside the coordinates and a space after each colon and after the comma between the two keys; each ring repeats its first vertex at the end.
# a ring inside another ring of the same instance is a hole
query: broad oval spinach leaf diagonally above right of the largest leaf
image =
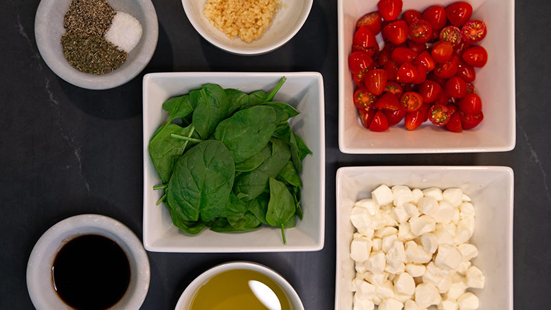
{"type": "Polygon", "coordinates": [[[216,126],[214,139],[225,144],[235,162],[260,152],[268,144],[275,130],[275,111],[271,107],[256,106],[237,111],[216,126]]]}

